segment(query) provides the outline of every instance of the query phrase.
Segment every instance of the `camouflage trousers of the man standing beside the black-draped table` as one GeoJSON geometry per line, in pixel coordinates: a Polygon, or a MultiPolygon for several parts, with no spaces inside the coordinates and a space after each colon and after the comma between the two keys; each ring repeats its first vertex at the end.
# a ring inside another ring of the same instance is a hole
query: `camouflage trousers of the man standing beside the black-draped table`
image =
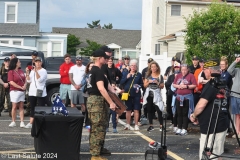
{"type": "Polygon", "coordinates": [[[91,95],[87,99],[88,118],[90,120],[89,146],[90,154],[93,156],[100,155],[104,145],[107,117],[105,101],[102,96],[91,95]]]}

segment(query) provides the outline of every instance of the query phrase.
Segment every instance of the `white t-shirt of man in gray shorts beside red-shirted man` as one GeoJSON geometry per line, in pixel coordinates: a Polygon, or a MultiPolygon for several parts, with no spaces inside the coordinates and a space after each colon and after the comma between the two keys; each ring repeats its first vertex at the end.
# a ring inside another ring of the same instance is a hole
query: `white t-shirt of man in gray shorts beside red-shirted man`
{"type": "MultiPolygon", "coordinates": [[[[82,65],[81,67],[74,65],[70,68],[69,73],[73,74],[73,81],[75,82],[76,85],[81,84],[81,81],[85,74],[85,68],[86,68],[86,66],[84,66],[84,65],[82,65]]],[[[71,90],[76,90],[72,84],[71,84],[71,90]]]]}

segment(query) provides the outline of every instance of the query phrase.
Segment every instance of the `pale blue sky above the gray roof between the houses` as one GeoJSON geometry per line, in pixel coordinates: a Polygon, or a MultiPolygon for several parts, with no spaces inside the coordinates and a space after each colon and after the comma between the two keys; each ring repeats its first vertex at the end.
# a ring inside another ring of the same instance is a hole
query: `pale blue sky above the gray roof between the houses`
{"type": "Polygon", "coordinates": [[[101,20],[114,29],[140,30],[142,0],[41,0],[40,31],[52,27],[85,28],[101,20]]]}

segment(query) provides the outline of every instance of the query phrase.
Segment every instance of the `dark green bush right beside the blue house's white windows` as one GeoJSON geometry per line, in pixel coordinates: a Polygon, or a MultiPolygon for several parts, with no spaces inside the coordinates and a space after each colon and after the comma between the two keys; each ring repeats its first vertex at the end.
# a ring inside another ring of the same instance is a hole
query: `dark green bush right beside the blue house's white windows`
{"type": "Polygon", "coordinates": [[[69,34],[67,37],[67,53],[75,56],[77,52],[76,47],[79,44],[81,44],[79,38],[77,38],[75,35],[69,34]]]}

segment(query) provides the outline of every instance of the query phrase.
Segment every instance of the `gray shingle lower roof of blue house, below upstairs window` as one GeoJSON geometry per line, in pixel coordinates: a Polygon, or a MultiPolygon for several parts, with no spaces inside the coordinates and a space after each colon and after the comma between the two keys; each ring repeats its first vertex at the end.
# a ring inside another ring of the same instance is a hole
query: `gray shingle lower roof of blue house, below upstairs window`
{"type": "Polygon", "coordinates": [[[40,35],[38,24],[0,23],[0,35],[40,35]]]}

